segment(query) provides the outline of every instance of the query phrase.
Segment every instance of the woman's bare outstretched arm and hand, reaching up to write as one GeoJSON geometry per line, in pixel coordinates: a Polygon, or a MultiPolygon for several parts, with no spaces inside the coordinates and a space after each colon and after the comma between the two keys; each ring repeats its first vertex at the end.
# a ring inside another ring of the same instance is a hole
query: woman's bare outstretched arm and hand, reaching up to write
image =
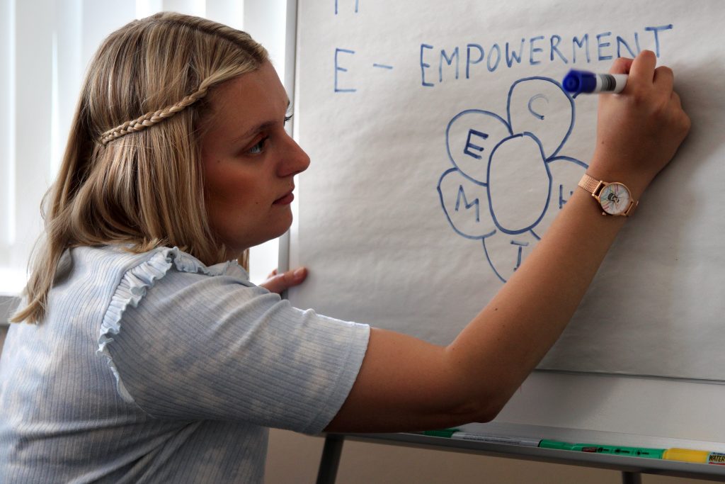
{"type": "MultiPolygon", "coordinates": [[[[600,96],[587,173],[638,200],[689,131],[672,71],[655,55],[620,59],[622,94],[600,96]]],[[[625,217],[602,216],[576,190],[537,247],[448,346],[371,329],[368,351],[328,432],[394,432],[493,419],[568,324],[625,217]]],[[[633,222],[636,223],[636,222],[633,222]]],[[[441,321],[447,324],[447,321],[441,321]]]]}

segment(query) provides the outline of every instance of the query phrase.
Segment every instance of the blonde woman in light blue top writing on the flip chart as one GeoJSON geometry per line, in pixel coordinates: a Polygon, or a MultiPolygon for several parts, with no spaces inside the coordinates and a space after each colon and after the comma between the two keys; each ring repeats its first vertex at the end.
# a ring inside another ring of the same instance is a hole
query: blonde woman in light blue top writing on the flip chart
{"type": "MultiPolygon", "coordinates": [[[[652,52],[612,71],[629,81],[600,99],[588,173],[638,200],[689,118],[652,52]]],[[[0,480],[247,483],[262,480],[267,427],[488,421],[566,326],[626,219],[578,190],[446,347],[301,311],[228,262],[291,223],[294,175],[310,160],[284,131],[288,108],[247,34],[165,13],[107,38],[14,316],[35,324],[11,328],[0,363],[0,480]]]]}

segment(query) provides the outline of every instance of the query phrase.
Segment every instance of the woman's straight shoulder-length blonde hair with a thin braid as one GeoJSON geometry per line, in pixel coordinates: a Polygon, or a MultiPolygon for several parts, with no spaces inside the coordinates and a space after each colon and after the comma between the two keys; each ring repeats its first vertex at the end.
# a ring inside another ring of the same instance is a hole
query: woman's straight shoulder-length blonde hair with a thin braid
{"type": "MultiPolygon", "coordinates": [[[[171,12],[112,33],[88,70],[58,177],[43,198],[43,243],[12,321],[38,322],[69,247],[180,247],[212,264],[199,121],[209,89],[257,70],[265,49],[244,32],[171,12]],[[144,114],[145,113],[145,114],[144,114]]],[[[243,261],[244,262],[244,261],[243,261]]]]}

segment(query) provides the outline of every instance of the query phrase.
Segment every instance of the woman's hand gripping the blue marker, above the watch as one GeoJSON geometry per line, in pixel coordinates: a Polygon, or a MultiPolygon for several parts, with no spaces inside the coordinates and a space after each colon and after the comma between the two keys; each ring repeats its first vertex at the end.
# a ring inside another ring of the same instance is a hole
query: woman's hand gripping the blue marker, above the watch
{"type": "Polygon", "coordinates": [[[610,73],[629,74],[621,94],[600,95],[597,147],[587,173],[621,181],[635,200],[674,156],[690,120],[673,90],[669,67],[655,68],[652,51],[616,60],[610,73]]]}

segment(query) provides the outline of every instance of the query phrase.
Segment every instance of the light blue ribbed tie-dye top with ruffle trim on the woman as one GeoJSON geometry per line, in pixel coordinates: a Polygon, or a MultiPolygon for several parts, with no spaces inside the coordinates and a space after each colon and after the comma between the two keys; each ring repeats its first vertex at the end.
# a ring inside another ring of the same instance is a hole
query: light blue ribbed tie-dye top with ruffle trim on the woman
{"type": "Polygon", "coordinates": [[[370,328],[293,308],[236,263],[80,247],[0,359],[2,483],[257,483],[267,427],[315,434],[370,328]]]}

